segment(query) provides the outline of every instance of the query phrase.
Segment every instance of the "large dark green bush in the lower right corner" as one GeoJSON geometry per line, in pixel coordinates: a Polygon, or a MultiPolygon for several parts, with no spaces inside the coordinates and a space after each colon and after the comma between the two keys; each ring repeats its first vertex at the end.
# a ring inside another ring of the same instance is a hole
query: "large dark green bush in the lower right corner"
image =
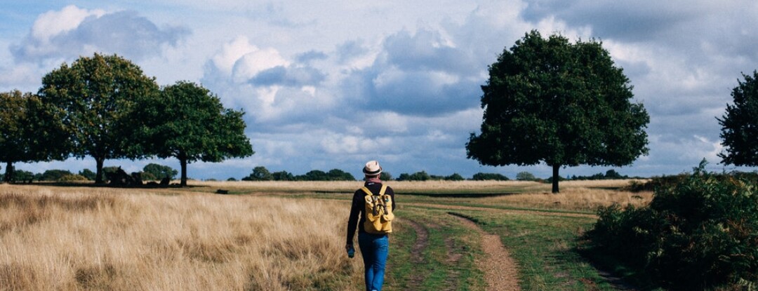
{"type": "Polygon", "coordinates": [[[758,284],[755,180],[705,171],[663,183],[644,208],[600,208],[587,233],[597,250],[670,289],[739,289],[758,284]]]}

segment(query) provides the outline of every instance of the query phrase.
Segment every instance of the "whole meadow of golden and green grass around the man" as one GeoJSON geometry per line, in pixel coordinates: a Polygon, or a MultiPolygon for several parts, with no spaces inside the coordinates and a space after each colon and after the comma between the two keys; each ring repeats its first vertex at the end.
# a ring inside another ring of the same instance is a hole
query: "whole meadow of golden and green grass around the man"
{"type": "MultiPolygon", "coordinates": [[[[620,289],[576,247],[598,206],[650,202],[619,190],[628,183],[565,182],[553,195],[535,182],[389,182],[399,219],[385,289],[491,289],[481,235],[457,217],[500,236],[522,289],[620,289]]],[[[0,185],[0,289],[361,288],[360,258],[344,253],[360,182],[189,184],[0,185]]]]}

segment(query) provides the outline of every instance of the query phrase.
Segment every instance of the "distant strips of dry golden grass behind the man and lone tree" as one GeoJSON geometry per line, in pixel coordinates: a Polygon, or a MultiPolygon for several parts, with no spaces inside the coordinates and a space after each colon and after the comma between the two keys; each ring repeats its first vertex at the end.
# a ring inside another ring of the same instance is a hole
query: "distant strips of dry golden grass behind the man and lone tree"
{"type": "MultiPolygon", "coordinates": [[[[490,198],[417,198],[418,202],[470,202],[484,205],[500,205],[524,208],[564,209],[575,211],[595,211],[600,206],[613,203],[619,205],[647,205],[653,199],[652,192],[628,192],[619,188],[628,186],[632,181],[645,183],[645,180],[578,180],[560,182],[559,194],[550,193],[550,183],[531,181],[389,181],[387,184],[399,193],[415,192],[440,193],[499,193],[520,192],[518,194],[490,198]]],[[[197,182],[194,186],[205,186],[205,191],[215,189],[237,189],[251,193],[275,192],[352,192],[360,182],[283,182],[283,181],[235,181],[235,182],[197,182]]]]}

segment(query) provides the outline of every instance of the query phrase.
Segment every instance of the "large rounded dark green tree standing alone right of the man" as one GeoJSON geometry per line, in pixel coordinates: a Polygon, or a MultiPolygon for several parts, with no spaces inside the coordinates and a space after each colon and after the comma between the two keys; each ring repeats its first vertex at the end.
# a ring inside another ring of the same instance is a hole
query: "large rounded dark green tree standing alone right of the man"
{"type": "Polygon", "coordinates": [[[466,143],[481,164],[622,166],[647,154],[650,117],[622,69],[594,39],[527,33],[489,67],[481,133],[466,143]]]}

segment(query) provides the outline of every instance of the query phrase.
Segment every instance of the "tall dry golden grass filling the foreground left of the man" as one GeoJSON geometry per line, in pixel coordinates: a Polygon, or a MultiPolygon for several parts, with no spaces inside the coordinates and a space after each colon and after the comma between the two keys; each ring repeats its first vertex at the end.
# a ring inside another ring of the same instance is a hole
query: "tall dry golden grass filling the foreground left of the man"
{"type": "MultiPolygon", "coordinates": [[[[0,185],[0,289],[355,289],[345,205],[0,185]]],[[[357,277],[356,277],[357,276],[357,277]]]]}

